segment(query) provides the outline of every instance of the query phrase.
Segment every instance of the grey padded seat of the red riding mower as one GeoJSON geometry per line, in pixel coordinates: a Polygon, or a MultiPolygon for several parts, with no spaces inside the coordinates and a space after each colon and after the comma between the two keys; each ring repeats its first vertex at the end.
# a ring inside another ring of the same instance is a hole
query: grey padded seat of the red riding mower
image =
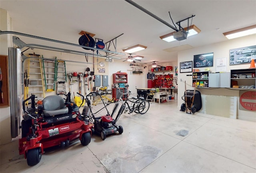
{"type": "Polygon", "coordinates": [[[68,108],[66,107],[65,101],[61,96],[47,96],[43,100],[43,106],[43,112],[45,117],[68,113],[68,108]]]}

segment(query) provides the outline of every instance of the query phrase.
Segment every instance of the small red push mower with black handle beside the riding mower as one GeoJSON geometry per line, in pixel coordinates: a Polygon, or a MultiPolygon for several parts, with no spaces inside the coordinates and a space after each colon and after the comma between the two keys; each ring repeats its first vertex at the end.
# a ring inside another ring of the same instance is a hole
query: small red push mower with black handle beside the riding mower
{"type": "Polygon", "coordinates": [[[110,102],[108,104],[104,103],[104,100],[102,99],[101,94],[99,94],[98,92],[90,92],[90,94],[86,95],[86,100],[87,100],[87,106],[84,106],[82,115],[83,114],[91,115],[90,120],[91,120],[91,122],[92,121],[94,122],[94,132],[96,134],[100,135],[102,140],[105,140],[107,135],[115,134],[116,132],[118,132],[119,134],[123,133],[122,126],[117,126],[116,122],[119,119],[120,115],[122,114],[122,111],[124,110],[125,106],[123,106],[123,105],[121,106],[120,110],[118,111],[118,114],[116,115],[116,118],[113,119],[112,117],[118,108],[119,102],[115,103],[112,114],[110,115],[110,113],[108,112],[107,106],[109,104],[111,104],[112,102],[110,102]],[[91,96],[100,96],[104,107],[101,108],[100,110],[98,110],[97,112],[92,113],[91,103],[90,103],[90,100],[88,99],[89,96],[90,97],[91,96]],[[102,111],[104,108],[106,109],[107,114],[104,116],[95,117],[96,114],[98,114],[98,112],[102,111]],[[88,111],[90,111],[91,113],[88,111]]]}

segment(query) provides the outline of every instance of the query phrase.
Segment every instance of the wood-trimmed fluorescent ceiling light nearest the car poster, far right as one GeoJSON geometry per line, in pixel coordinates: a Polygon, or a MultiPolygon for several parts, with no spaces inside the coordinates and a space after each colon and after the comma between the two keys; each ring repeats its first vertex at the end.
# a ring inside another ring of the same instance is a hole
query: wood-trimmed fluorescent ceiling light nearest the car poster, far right
{"type": "Polygon", "coordinates": [[[248,27],[241,28],[241,29],[236,29],[234,31],[225,32],[225,33],[223,33],[223,35],[225,35],[228,39],[233,39],[233,38],[237,38],[237,37],[251,35],[254,33],[256,33],[256,25],[248,26],[248,27]]]}

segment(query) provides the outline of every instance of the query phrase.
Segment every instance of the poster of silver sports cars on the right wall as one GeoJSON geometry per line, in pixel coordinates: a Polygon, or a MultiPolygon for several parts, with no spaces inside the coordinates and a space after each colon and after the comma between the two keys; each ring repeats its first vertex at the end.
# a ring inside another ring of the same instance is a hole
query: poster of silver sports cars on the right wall
{"type": "Polygon", "coordinates": [[[230,65],[251,63],[256,61],[256,45],[230,49],[230,65]]]}

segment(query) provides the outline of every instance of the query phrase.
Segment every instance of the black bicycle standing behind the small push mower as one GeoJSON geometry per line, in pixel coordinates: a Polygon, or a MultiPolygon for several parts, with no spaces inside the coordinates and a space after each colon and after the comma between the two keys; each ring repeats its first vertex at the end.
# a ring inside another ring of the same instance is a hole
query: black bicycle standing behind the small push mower
{"type": "MultiPolygon", "coordinates": [[[[135,93],[133,93],[135,94],[135,93]]],[[[124,105],[124,113],[128,112],[128,114],[135,112],[137,114],[145,114],[149,107],[150,107],[150,103],[148,100],[145,100],[144,97],[132,97],[129,98],[129,96],[131,95],[131,91],[129,91],[128,93],[123,93],[123,95],[125,96],[124,98],[124,102],[122,100],[122,98],[120,98],[120,101],[123,102],[122,106],[124,105]],[[128,103],[131,102],[131,104],[128,103]]],[[[123,112],[122,112],[123,113],[123,112]]]]}

